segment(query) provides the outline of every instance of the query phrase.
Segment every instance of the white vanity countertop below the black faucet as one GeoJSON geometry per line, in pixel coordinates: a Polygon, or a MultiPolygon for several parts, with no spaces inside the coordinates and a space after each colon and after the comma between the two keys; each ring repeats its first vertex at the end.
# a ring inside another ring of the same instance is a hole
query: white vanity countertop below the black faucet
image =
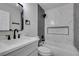
{"type": "Polygon", "coordinates": [[[27,37],[23,36],[20,39],[12,40],[0,40],[0,56],[8,54],[16,49],[22,48],[25,45],[31,44],[32,42],[38,41],[38,37],[27,37]]]}

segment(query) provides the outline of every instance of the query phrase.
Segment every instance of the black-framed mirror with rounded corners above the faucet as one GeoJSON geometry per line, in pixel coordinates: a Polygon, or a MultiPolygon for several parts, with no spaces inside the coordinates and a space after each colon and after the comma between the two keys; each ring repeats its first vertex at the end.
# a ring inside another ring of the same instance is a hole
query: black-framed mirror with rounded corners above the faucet
{"type": "Polygon", "coordinates": [[[0,30],[23,30],[23,6],[20,3],[0,3],[0,30]]]}

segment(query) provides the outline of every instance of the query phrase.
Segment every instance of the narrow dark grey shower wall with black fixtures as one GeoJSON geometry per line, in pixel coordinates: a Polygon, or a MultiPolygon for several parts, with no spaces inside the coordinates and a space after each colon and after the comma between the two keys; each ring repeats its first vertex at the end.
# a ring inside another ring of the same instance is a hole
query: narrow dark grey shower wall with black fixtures
{"type": "MultiPolygon", "coordinates": [[[[42,41],[45,41],[45,17],[43,16],[45,14],[45,11],[44,9],[38,5],[38,36],[40,38],[39,40],[39,44],[42,42],[42,41]]],[[[38,44],[38,45],[39,45],[38,44]]]]}

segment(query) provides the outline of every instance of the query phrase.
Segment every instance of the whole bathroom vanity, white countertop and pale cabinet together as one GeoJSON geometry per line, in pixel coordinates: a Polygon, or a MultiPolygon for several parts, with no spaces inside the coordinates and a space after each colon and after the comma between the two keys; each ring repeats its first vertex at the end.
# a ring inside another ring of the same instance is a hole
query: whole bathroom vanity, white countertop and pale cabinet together
{"type": "Polygon", "coordinates": [[[0,41],[0,56],[37,56],[38,37],[0,41]]]}

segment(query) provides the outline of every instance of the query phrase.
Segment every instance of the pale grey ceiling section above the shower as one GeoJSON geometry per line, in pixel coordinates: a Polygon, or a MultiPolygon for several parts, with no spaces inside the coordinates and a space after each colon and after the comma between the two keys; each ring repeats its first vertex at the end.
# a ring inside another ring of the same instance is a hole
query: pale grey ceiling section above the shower
{"type": "Polygon", "coordinates": [[[39,3],[39,5],[40,5],[44,10],[56,8],[56,7],[59,7],[59,6],[63,6],[63,5],[65,5],[65,4],[68,4],[68,3],[39,3]]]}

